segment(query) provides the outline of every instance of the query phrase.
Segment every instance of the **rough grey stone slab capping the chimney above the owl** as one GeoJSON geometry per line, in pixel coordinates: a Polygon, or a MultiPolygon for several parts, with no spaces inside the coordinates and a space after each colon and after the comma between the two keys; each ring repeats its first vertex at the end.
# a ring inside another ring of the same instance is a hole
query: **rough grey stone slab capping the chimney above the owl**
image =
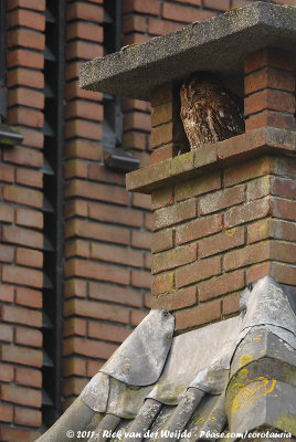
{"type": "Polygon", "coordinates": [[[235,76],[249,53],[267,46],[296,55],[296,8],[260,1],[192,23],[84,63],[80,83],[85,90],[149,101],[155,87],[195,71],[235,76]]]}

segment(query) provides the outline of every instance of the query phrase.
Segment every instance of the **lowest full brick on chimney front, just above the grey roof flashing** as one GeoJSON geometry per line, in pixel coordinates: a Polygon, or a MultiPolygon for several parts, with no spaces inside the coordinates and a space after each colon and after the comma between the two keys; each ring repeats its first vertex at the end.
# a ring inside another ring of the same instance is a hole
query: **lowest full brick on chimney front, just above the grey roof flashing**
{"type": "Polygon", "coordinates": [[[192,328],[221,318],[221,301],[215,299],[176,312],[176,330],[192,328]]]}

